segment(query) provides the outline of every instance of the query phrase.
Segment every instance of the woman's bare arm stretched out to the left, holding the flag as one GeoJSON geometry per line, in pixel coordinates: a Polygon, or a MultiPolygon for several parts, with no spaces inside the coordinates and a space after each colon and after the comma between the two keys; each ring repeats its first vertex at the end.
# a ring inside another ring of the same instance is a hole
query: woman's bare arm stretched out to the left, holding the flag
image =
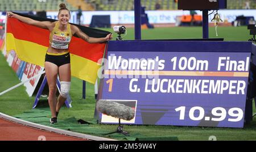
{"type": "Polygon", "coordinates": [[[36,27],[40,27],[40,28],[51,29],[53,26],[52,22],[48,22],[48,21],[40,22],[38,20],[34,20],[31,18],[26,18],[24,16],[20,16],[18,14],[14,14],[13,12],[7,12],[7,16],[9,18],[16,18],[23,23],[30,24],[31,26],[36,26],[36,27]]]}

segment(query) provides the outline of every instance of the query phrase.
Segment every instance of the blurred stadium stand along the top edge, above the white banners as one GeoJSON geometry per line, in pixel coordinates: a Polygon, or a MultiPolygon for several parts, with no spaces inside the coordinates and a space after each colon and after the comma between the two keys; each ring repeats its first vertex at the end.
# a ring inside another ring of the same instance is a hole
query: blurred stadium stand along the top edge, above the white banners
{"type": "MultiPolygon", "coordinates": [[[[56,11],[60,3],[66,3],[69,10],[76,11],[78,6],[84,11],[89,10],[133,10],[134,0],[0,0],[2,11],[56,11]]],[[[227,0],[228,9],[245,9],[248,0],[227,0]]],[[[256,0],[250,1],[250,9],[256,9],[256,0]]],[[[177,10],[174,0],[141,0],[146,10],[155,10],[155,4],[160,4],[160,10],[177,10]]]]}

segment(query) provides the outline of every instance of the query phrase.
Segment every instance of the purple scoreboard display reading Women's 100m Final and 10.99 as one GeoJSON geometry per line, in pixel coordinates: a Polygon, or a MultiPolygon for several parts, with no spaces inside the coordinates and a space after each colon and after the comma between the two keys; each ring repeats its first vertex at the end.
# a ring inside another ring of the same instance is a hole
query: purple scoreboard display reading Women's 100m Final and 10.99
{"type": "Polygon", "coordinates": [[[242,128],[250,58],[249,42],[110,41],[98,98],[135,109],[121,123],[242,128]]]}

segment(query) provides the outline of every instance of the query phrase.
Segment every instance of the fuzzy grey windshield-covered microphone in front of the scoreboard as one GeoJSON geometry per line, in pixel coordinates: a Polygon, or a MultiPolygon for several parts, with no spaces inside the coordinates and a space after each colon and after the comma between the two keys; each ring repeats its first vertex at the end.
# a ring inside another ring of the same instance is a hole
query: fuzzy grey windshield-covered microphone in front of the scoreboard
{"type": "Polygon", "coordinates": [[[108,100],[98,100],[96,109],[105,115],[123,120],[131,120],[135,116],[133,108],[117,102],[110,102],[108,100]]]}

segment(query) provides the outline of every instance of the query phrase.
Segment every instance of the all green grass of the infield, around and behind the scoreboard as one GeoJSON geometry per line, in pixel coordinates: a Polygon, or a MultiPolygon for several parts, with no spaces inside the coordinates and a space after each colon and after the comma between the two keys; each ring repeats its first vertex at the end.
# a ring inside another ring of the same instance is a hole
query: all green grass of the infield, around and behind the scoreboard
{"type": "MultiPolygon", "coordinates": [[[[112,29],[105,29],[112,32],[112,29]]],[[[134,30],[127,29],[128,34],[124,40],[134,40],[134,30]]],[[[217,38],[215,29],[209,28],[209,37],[217,38]]],[[[218,27],[218,37],[225,41],[247,41],[251,38],[247,27],[218,27]]],[[[114,37],[117,37],[114,34],[114,37]]],[[[174,27],[155,28],[142,30],[142,39],[193,39],[202,37],[201,27],[174,27]]],[[[14,71],[7,65],[3,55],[0,55],[0,92],[19,83],[14,71]]],[[[86,99],[82,96],[82,81],[72,78],[70,91],[72,108],[63,107],[59,119],[75,117],[83,120],[93,120],[96,100],[94,99],[94,86],[86,83],[86,99]]],[[[13,91],[0,96],[0,112],[7,115],[18,115],[32,108],[35,96],[29,98],[25,87],[20,86],[13,91]]],[[[46,101],[40,100],[38,108],[48,108],[46,101]]],[[[255,112],[255,107],[253,104],[255,112]]],[[[114,131],[117,125],[94,124],[90,125],[98,129],[114,131]]],[[[209,136],[216,136],[217,140],[256,140],[256,118],[251,124],[245,125],[243,129],[237,128],[212,128],[212,127],[191,127],[191,126],[154,126],[154,125],[125,125],[125,131],[139,133],[147,137],[178,137],[179,140],[208,140],[209,136]]]]}

